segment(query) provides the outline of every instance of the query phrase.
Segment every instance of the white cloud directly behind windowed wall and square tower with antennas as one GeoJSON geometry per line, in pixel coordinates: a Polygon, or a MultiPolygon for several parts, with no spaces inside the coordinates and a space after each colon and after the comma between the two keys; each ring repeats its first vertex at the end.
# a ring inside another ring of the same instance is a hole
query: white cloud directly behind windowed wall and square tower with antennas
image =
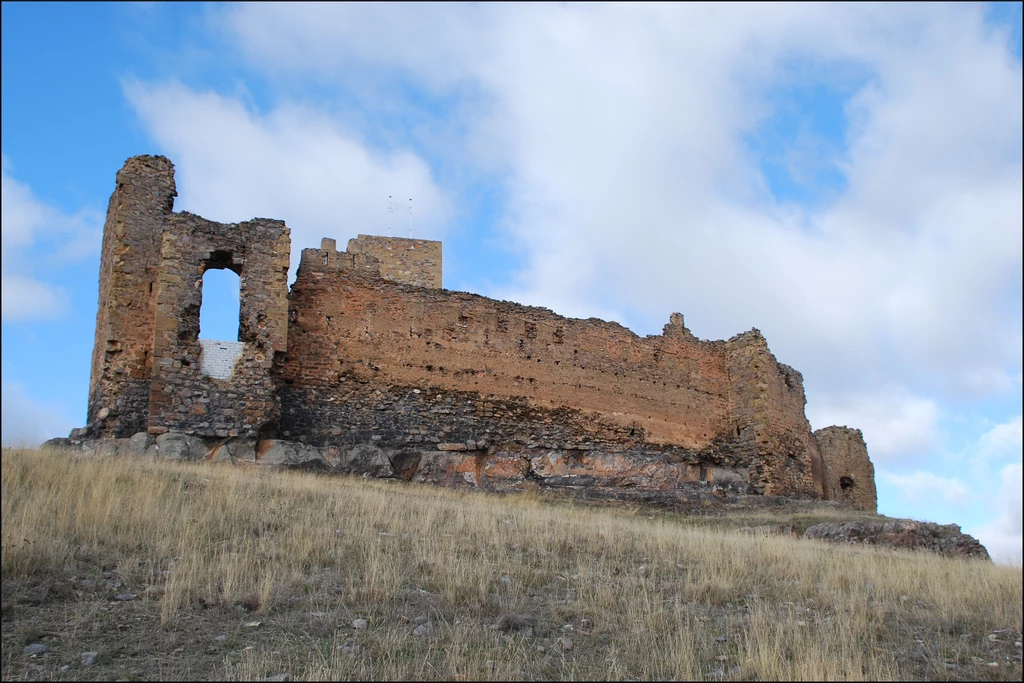
{"type": "MultiPolygon", "coordinates": [[[[386,233],[388,196],[413,199],[414,237],[436,239],[451,214],[429,167],[410,152],[378,153],[324,113],[283,103],[266,115],[237,98],[178,83],[130,83],[125,92],[175,163],[177,210],[211,220],[280,218],[299,251],[321,238],[386,233]]],[[[397,220],[393,233],[408,234],[397,220]]]]}

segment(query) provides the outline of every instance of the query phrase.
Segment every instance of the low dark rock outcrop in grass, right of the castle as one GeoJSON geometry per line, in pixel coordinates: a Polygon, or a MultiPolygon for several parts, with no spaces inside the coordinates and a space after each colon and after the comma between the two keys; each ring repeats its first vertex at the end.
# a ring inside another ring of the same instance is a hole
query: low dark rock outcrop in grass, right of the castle
{"type": "Polygon", "coordinates": [[[908,519],[825,522],[809,526],[804,535],[833,543],[867,544],[909,550],[930,550],[950,557],[990,560],[977,539],[956,524],[935,524],[908,519]]]}

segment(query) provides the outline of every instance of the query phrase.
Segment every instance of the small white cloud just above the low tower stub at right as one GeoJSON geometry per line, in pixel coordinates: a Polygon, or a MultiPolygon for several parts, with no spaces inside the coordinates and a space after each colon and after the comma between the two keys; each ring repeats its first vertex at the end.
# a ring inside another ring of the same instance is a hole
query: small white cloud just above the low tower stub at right
{"type": "Polygon", "coordinates": [[[815,396],[807,414],[814,428],[835,424],[859,428],[876,464],[927,453],[941,438],[935,400],[896,386],[873,393],[815,396]]]}

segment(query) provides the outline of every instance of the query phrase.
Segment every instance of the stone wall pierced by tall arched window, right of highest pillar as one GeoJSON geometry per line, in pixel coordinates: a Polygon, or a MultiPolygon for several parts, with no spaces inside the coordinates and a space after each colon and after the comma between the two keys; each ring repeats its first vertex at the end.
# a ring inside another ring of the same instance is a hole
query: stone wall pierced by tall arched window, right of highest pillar
{"type": "Polygon", "coordinates": [[[271,368],[274,354],[287,349],[290,249],[283,221],[224,224],[189,213],[168,217],[153,342],[151,433],[256,436],[276,424],[271,368]],[[199,314],[209,268],[239,273],[239,341],[245,346],[227,379],[203,372],[199,314]]]}

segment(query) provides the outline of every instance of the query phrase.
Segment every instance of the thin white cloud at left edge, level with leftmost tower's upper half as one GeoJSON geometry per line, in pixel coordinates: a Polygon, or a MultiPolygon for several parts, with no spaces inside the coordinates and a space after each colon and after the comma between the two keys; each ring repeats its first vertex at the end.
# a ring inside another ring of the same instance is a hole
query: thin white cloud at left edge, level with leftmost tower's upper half
{"type": "Polygon", "coordinates": [[[2,317],[6,322],[51,319],[70,310],[67,293],[35,274],[76,260],[99,245],[99,218],[89,210],[67,215],[39,201],[32,189],[9,173],[3,156],[2,175],[2,317]],[[42,245],[45,257],[36,249],[42,245]]]}

